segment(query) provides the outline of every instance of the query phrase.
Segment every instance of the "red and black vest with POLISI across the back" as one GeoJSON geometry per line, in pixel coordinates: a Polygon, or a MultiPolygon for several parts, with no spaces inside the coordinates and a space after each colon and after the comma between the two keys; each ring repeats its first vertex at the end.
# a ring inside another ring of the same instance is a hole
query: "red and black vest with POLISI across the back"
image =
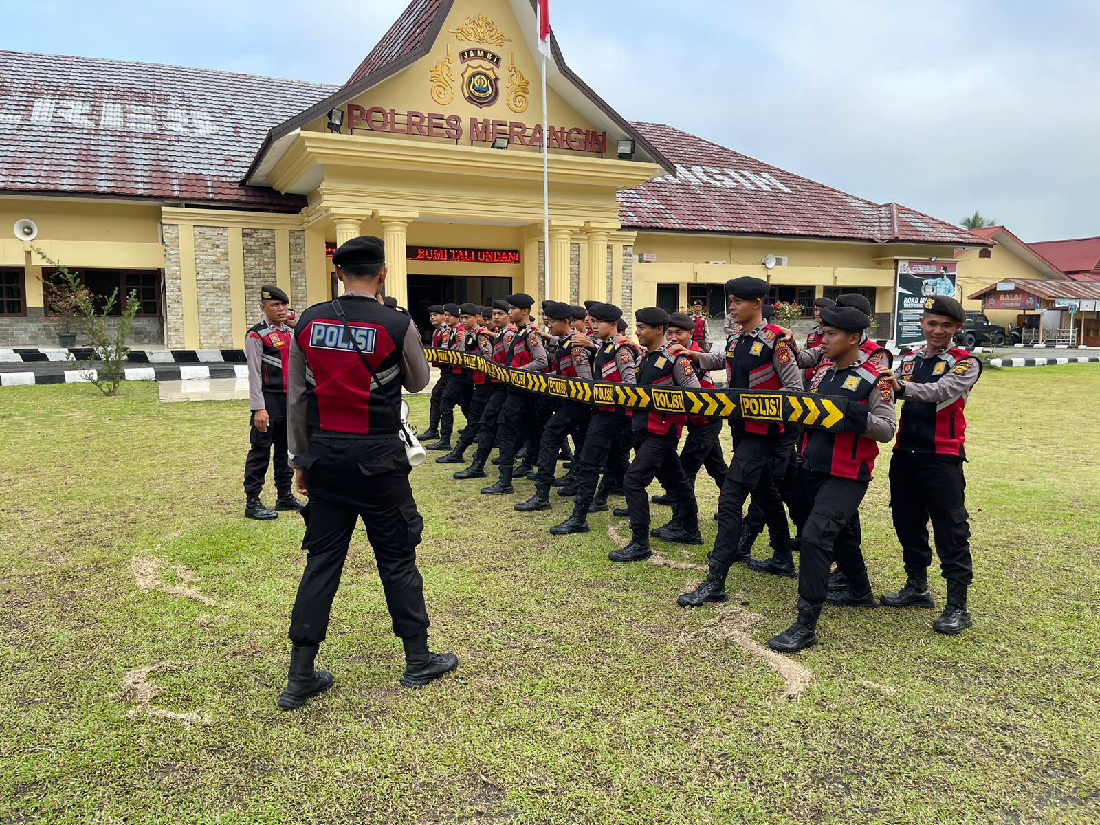
{"type": "Polygon", "coordinates": [[[306,356],[307,421],[310,429],[356,435],[398,431],[402,348],[409,318],[373,298],[339,299],[377,380],[371,377],[329,301],[315,304],[298,320],[295,339],[306,356]],[[381,385],[380,385],[381,383],[381,385]]]}

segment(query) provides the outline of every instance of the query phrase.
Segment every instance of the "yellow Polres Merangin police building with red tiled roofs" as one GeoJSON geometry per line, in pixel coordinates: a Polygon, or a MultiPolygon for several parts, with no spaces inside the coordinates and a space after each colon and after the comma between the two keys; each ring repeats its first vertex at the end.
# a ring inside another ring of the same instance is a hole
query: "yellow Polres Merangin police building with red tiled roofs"
{"type": "Polygon", "coordinates": [[[331,251],[359,234],[385,240],[387,292],[418,320],[446,300],[541,299],[547,282],[628,315],[696,297],[719,315],[725,280],[756,275],[807,308],[862,290],[880,338],[895,262],[994,245],[628,122],[557,43],[543,135],[536,43],[530,0],[414,0],[341,86],[0,52],[0,346],[56,342],[38,320],[46,258],[138,292],[135,343],[228,349],[262,283],[298,308],[330,298],[331,251]]]}

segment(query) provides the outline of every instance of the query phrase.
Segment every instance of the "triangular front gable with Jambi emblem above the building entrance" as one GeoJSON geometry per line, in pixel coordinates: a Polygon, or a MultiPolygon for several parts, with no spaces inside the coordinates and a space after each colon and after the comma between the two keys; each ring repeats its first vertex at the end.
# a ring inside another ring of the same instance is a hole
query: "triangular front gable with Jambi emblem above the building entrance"
{"type": "MultiPolygon", "coordinates": [[[[346,120],[356,119],[358,127],[383,132],[411,129],[418,136],[484,142],[484,125],[495,122],[492,134],[507,133],[513,143],[538,145],[542,128],[536,45],[535,0],[413,0],[345,86],[271,130],[244,180],[266,184],[267,170],[293,135],[323,128],[321,119],[334,108],[344,108],[346,120]],[[507,21],[509,31],[494,30],[490,12],[507,21]],[[468,48],[488,55],[470,56],[464,53],[468,48]],[[383,84],[386,89],[380,88],[383,84]],[[524,84],[526,94],[521,95],[524,84]],[[424,103],[405,106],[392,100],[385,106],[380,97],[367,94],[377,90],[381,95],[389,87],[403,100],[424,103]],[[367,101],[381,111],[369,114],[371,106],[363,106],[367,101]],[[432,113],[443,117],[430,119],[432,113]],[[450,118],[457,121],[448,122],[450,118]]],[[[600,152],[615,157],[615,142],[625,138],[635,141],[634,160],[672,168],[645,135],[569,69],[552,33],[551,54],[547,85],[552,152],[600,152]]]]}

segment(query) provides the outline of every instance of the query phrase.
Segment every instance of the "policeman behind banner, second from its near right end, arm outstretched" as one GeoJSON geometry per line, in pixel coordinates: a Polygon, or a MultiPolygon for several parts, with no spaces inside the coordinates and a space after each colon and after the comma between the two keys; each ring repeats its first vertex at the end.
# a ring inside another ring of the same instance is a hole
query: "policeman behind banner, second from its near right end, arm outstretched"
{"type": "MultiPolygon", "coordinates": [[[[726,353],[693,352],[682,346],[670,352],[685,352],[701,370],[717,370],[725,365],[733,389],[793,389],[801,392],[802,376],[794,356],[779,327],[765,323],[761,316],[768,282],[741,277],[726,282],[734,321],[740,331],[730,338],[726,353]]],[[[691,593],[678,600],[683,607],[697,607],[706,602],[726,601],[726,573],[730,564],[751,558],[739,551],[741,517],[745,502],[751,494],[767,516],[774,556],[763,572],[794,578],[787,513],[779,496],[777,475],[785,471],[789,444],[780,437],[783,425],[749,419],[730,419],[734,429],[734,461],[718,496],[718,536],[708,554],[706,580],[691,593]]]]}

